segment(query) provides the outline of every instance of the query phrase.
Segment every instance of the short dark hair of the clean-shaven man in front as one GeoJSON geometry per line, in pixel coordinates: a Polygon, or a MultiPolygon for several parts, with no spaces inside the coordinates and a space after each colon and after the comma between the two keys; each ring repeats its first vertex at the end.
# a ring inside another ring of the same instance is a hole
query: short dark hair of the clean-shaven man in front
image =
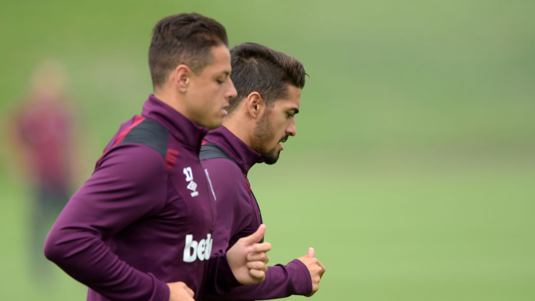
{"type": "Polygon", "coordinates": [[[213,46],[225,44],[225,27],[198,13],[180,13],[165,17],[152,29],[149,68],[154,88],[167,80],[178,65],[185,64],[199,74],[210,64],[213,46]]]}

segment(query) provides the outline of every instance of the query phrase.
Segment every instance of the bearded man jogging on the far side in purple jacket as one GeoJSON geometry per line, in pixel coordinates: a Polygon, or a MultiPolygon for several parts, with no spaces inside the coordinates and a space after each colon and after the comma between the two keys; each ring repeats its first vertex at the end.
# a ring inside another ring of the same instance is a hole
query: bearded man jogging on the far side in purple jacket
{"type": "MultiPolygon", "coordinates": [[[[303,64],[294,57],[263,45],[243,43],[231,50],[232,74],[238,96],[231,100],[223,126],[212,130],[201,148],[202,165],[210,172],[216,197],[217,223],[213,251],[232,248],[262,223],[247,173],[255,163],[274,164],[283,149],[280,142],[295,136],[305,83],[303,64]]],[[[265,254],[250,255],[251,260],[265,254]]],[[[325,267],[310,248],[287,265],[268,268],[262,283],[238,287],[205,300],[275,299],[311,296],[318,290],[325,267]]]]}

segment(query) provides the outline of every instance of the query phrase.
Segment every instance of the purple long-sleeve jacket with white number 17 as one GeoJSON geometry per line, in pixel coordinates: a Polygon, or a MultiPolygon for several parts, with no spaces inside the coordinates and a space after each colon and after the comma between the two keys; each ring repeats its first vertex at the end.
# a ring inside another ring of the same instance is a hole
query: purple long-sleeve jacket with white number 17
{"type": "Polygon", "coordinates": [[[120,126],[45,243],[87,300],[168,301],[175,281],[197,299],[204,281],[238,285],[213,252],[215,199],[198,160],[206,133],[153,95],[120,126]]]}

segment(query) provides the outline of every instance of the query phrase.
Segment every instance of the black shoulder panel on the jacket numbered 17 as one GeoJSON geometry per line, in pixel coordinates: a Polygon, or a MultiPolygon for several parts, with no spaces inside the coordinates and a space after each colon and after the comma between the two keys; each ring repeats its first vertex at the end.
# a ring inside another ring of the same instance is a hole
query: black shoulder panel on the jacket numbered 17
{"type": "Polygon", "coordinates": [[[152,119],[145,119],[126,134],[121,143],[139,143],[150,146],[162,155],[167,155],[169,130],[152,119]]]}

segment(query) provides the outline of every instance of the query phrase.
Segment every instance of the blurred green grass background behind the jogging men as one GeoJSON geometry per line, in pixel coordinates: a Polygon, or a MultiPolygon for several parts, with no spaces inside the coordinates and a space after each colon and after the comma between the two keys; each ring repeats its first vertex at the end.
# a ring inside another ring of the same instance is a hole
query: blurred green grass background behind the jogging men
{"type": "MultiPolygon", "coordinates": [[[[152,92],[152,26],[192,11],[231,47],[265,44],[310,75],[297,136],[249,174],[270,264],[314,246],[327,268],[314,300],[535,299],[535,2],[2,2],[2,121],[33,67],[62,61],[80,184],[152,92]]],[[[30,191],[4,143],[2,299],[85,299],[52,264],[32,276],[30,191]]]]}

